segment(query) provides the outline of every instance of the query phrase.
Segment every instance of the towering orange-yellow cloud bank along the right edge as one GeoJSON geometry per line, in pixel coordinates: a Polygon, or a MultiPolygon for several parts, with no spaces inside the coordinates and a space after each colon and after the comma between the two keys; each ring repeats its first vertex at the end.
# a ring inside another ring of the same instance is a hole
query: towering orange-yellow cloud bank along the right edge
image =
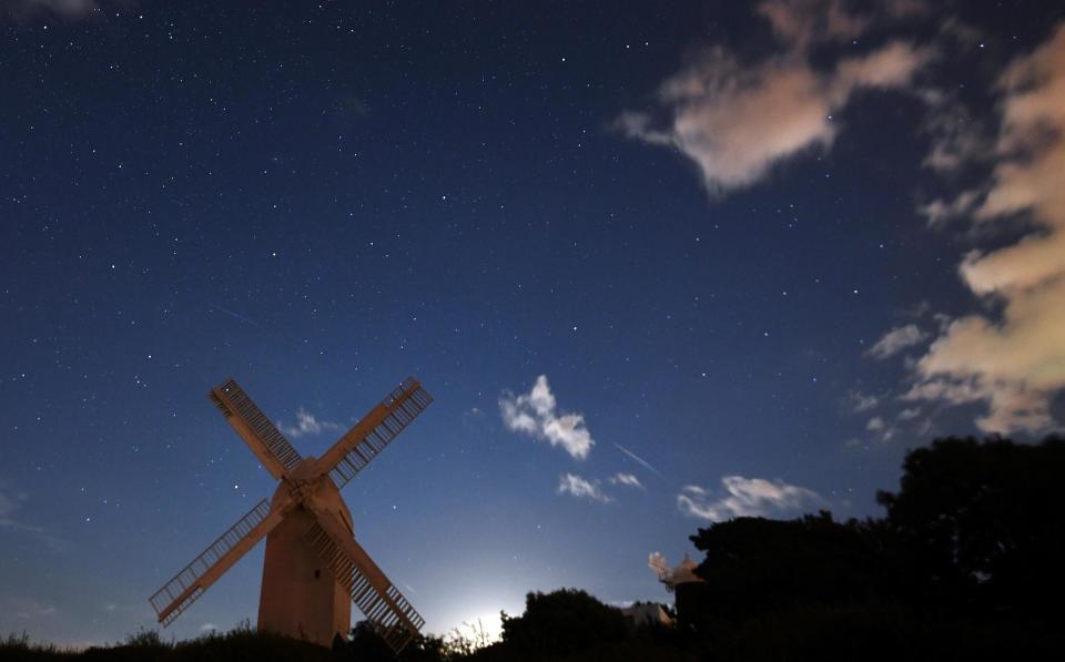
{"type": "Polygon", "coordinates": [[[997,90],[994,171],[982,202],[958,206],[974,226],[1020,218],[1033,230],[964,257],[962,281],[994,304],[986,308],[993,313],[950,322],[917,361],[903,398],[982,403],[982,430],[1036,434],[1065,422],[1051,415],[1052,399],[1065,388],[1065,23],[1012,62],[997,90]]]}

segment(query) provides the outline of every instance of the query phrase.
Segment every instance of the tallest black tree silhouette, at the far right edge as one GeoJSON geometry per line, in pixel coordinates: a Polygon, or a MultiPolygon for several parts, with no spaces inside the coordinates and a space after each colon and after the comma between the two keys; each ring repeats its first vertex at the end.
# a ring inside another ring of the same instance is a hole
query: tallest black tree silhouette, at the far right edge
{"type": "Polygon", "coordinates": [[[1061,601],[1065,441],[940,439],[906,455],[897,493],[879,492],[929,600],[1002,613],[1061,601]]]}

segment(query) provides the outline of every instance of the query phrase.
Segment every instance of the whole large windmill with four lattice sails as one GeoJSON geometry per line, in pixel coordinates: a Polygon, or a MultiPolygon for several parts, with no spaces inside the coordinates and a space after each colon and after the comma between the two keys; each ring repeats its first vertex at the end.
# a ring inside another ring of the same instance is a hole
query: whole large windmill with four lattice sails
{"type": "Polygon", "coordinates": [[[425,620],[355,541],[339,490],[433,397],[408,377],[321,458],[301,457],[236,381],[207,397],[281,485],[149,599],[159,622],[172,623],[265,537],[260,630],[329,645],[347,633],[354,602],[398,653],[425,620]]]}

